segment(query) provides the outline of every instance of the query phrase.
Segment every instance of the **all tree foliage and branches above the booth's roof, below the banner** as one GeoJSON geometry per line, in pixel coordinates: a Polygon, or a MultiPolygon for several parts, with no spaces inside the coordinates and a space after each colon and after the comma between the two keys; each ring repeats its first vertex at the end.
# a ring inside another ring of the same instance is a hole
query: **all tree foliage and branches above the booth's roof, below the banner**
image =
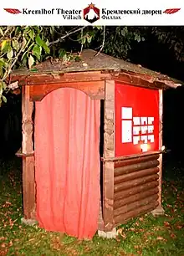
{"type": "Polygon", "coordinates": [[[0,27],[0,105],[7,101],[6,93],[18,87],[8,84],[8,77],[22,65],[32,69],[33,64],[47,58],[60,58],[68,64],[79,60],[82,49],[89,47],[127,59],[132,42],[140,43],[149,34],[167,44],[176,59],[183,60],[183,32],[183,27],[0,27]]]}

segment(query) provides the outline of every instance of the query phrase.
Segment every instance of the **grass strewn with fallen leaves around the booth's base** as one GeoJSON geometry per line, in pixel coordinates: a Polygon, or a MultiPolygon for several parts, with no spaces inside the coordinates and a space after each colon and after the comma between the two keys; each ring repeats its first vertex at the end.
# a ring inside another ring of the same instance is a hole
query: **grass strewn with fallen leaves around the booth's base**
{"type": "Polygon", "coordinates": [[[147,214],[119,227],[116,239],[95,236],[92,241],[23,225],[21,162],[1,161],[0,166],[0,255],[184,255],[181,166],[165,167],[164,217],[147,214]]]}

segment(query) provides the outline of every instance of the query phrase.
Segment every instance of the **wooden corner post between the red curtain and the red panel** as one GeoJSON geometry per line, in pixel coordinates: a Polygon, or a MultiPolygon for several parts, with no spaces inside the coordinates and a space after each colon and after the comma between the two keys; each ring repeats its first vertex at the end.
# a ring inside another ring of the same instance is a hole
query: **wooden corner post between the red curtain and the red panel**
{"type": "MultiPolygon", "coordinates": [[[[115,157],[115,81],[105,81],[104,157],[115,157]]],[[[105,232],[114,228],[114,162],[104,162],[104,224],[105,232]]]]}

